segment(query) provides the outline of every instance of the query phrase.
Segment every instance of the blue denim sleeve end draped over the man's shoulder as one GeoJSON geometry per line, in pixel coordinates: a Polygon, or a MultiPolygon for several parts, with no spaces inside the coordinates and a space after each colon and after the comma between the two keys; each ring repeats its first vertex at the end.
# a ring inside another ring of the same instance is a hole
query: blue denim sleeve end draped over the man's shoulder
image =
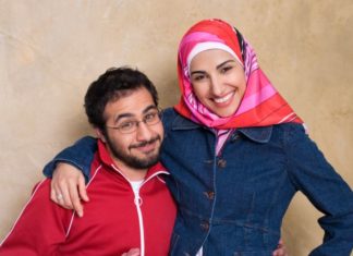
{"type": "Polygon", "coordinates": [[[83,172],[86,183],[89,181],[90,163],[97,151],[97,139],[85,136],[78,139],[74,145],[63,149],[50,162],[48,162],[42,173],[51,178],[58,162],[66,162],[83,172]]]}

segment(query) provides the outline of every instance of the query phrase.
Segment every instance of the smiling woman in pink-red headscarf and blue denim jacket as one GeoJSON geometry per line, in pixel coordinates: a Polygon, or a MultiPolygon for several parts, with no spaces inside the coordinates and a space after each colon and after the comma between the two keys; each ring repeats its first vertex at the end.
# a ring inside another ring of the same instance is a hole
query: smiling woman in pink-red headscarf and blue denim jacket
{"type": "MultiPolygon", "coordinates": [[[[261,72],[243,36],[220,20],[195,24],[181,40],[178,75],[182,97],[163,112],[161,151],[179,206],[170,254],[271,255],[283,215],[302,191],[325,214],[324,243],[311,255],[349,255],[352,191],[261,72]]],[[[93,143],[86,138],[58,159],[89,170],[93,143]]],[[[62,193],[68,200],[69,186],[58,180],[52,197],[62,193]]]]}

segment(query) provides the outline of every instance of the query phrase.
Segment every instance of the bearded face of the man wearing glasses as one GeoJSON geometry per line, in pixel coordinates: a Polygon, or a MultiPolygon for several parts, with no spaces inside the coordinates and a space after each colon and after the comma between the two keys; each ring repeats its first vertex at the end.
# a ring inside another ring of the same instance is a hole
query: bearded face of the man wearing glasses
{"type": "Polygon", "coordinates": [[[151,95],[144,87],[107,103],[104,112],[107,120],[106,135],[102,139],[114,163],[121,170],[126,168],[146,170],[158,162],[163,125],[160,121],[151,122],[154,124],[138,122],[156,118],[154,114],[157,111],[151,95]],[[135,131],[123,133],[123,127],[135,125],[136,121],[138,124],[135,131]]]}

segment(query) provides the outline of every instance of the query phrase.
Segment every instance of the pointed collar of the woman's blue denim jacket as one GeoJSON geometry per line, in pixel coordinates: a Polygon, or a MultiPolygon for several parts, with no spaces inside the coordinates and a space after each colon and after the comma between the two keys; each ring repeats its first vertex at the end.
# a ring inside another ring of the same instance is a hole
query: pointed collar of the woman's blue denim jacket
{"type": "MultiPolygon", "coordinates": [[[[172,122],[172,130],[193,130],[205,129],[204,126],[185,119],[178,114],[172,122]]],[[[238,133],[243,134],[245,137],[256,143],[268,143],[272,134],[272,125],[264,127],[241,127],[236,130],[238,133]]]]}

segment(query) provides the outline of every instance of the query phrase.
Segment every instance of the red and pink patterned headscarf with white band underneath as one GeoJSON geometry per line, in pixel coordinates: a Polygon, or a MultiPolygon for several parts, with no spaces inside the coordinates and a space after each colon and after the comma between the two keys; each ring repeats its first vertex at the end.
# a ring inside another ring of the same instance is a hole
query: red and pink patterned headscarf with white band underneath
{"type": "Polygon", "coordinates": [[[287,122],[303,123],[258,66],[252,46],[236,28],[221,20],[200,21],[186,32],[179,46],[178,76],[182,96],[174,109],[207,127],[224,131],[287,122]],[[190,63],[197,53],[209,49],[226,50],[245,71],[246,89],[231,117],[221,118],[212,113],[193,92],[190,63]]]}

